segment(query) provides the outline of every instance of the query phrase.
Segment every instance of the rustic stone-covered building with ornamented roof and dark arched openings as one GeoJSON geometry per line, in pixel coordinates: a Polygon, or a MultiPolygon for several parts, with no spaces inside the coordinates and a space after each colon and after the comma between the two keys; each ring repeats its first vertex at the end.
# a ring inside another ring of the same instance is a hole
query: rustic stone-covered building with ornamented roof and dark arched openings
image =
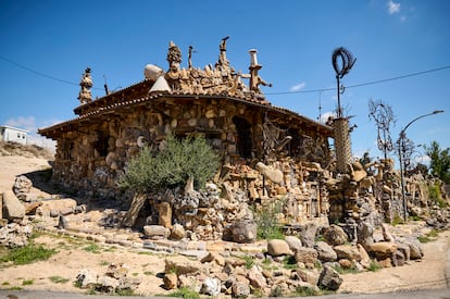
{"type": "MultiPolygon", "coordinates": [[[[171,41],[167,71],[147,65],[142,82],[95,100],[87,68],[80,83],[80,105],[74,109],[77,116],[39,129],[58,144],[53,179],[66,188],[116,197],[115,182],[127,161],[145,145],[159,146],[167,134],[204,135],[221,153],[223,165],[254,169],[263,162],[285,176],[308,172],[307,165],[328,165],[333,128],[271,104],[260,89],[270,84],[259,75],[262,66],[257,50],[250,50],[249,73],[242,74],[229,64],[226,41],[220,43],[215,65],[204,68],[192,66],[191,47],[188,66],[182,67],[182,52],[171,41]],[[287,170],[283,161],[289,163],[287,170]]],[[[308,175],[314,180],[313,171],[308,175]]],[[[291,180],[279,185],[290,191],[302,184],[298,178],[295,184],[291,180]]],[[[318,186],[314,189],[321,192],[318,186]]],[[[325,208],[316,210],[321,209],[325,208]]]]}

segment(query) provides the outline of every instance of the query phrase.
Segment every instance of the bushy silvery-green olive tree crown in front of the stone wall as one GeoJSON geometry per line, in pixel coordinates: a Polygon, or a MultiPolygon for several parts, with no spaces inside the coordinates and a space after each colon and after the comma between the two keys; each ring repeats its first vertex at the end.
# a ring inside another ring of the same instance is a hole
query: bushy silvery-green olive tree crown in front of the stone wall
{"type": "Polygon", "coordinates": [[[164,149],[145,147],[129,161],[118,186],[139,192],[185,185],[192,178],[202,187],[218,167],[218,155],[203,137],[177,139],[167,136],[164,149]]]}

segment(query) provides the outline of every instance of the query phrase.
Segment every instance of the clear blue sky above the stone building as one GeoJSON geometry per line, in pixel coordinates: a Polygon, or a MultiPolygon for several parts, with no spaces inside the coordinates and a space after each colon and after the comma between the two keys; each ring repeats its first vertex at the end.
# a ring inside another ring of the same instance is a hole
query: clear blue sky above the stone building
{"type": "Polygon", "coordinates": [[[311,91],[336,86],[334,49],[352,52],[357,63],[342,79],[347,88],[341,103],[358,125],[351,135],[354,154],[368,150],[372,157],[382,155],[375,123],[368,119],[370,99],[392,108],[395,140],[414,117],[446,110],[417,121],[407,135],[416,145],[437,140],[447,148],[449,15],[446,0],[0,0],[0,124],[36,136],[38,127],[75,117],[78,83],[87,66],[92,70],[93,97],[102,97],[105,78],[112,90],[143,79],[148,63],[166,70],[171,40],[183,51],[182,66],[192,45],[192,64],[203,67],[216,62],[218,42],[229,36],[230,64],[247,72],[248,50],[258,49],[260,75],[273,84],[263,87],[266,98],[310,119],[318,116],[320,102],[322,114],[336,109],[335,90],[311,91]]]}

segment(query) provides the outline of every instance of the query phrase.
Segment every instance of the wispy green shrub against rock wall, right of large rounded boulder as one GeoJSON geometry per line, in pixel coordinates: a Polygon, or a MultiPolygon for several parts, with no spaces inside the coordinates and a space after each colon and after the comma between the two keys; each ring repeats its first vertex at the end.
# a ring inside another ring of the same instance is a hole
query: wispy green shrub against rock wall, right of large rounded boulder
{"type": "Polygon", "coordinates": [[[253,211],[259,239],[285,239],[282,226],[276,221],[277,214],[283,211],[283,201],[273,200],[253,211]]]}

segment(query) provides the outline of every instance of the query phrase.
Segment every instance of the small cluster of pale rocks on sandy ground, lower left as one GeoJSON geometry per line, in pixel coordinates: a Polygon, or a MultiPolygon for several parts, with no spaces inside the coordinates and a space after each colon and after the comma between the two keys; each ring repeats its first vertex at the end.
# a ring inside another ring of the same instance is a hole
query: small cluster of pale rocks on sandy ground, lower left
{"type": "Polygon", "coordinates": [[[140,284],[140,279],[128,277],[128,272],[129,269],[125,264],[111,264],[103,275],[84,269],[76,276],[76,285],[84,289],[108,294],[120,294],[124,290],[133,291],[140,284]]]}

